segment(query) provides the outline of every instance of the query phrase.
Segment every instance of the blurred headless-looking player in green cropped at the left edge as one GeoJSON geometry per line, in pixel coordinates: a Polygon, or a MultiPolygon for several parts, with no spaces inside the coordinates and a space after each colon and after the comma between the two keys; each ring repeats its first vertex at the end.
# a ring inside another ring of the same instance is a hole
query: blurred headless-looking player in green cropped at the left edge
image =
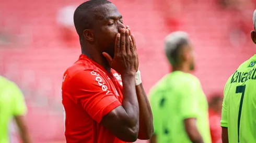
{"type": "Polygon", "coordinates": [[[30,143],[31,139],[27,130],[24,115],[27,112],[24,97],[17,85],[0,76],[0,142],[8,143],[8,125],[14,118],[22,141],[30,143]]]}

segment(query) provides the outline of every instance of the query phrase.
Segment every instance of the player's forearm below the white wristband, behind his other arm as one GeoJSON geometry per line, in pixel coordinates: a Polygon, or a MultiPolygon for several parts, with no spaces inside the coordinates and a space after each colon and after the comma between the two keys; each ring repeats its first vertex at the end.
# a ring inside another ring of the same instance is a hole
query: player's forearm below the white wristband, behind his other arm
{"type": "Polygon", "coordinates": [[[142,84],[136,86],[139,105],[139,139],[149,139],[154,133],[153,114],[142,84]]]}

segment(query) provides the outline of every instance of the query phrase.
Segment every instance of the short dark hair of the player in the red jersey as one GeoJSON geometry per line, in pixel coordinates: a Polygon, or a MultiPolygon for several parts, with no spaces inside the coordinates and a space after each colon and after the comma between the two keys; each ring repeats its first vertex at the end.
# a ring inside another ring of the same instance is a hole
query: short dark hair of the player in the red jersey
{"type": "Polygon", "coordinates": [[[74,12],[74,24],[76,32],[81,37],[85,29],[91,29],[94,25],[94,11],[98,6],[112,4],[106,0],[90,0],[80,4],[74,12]]]}

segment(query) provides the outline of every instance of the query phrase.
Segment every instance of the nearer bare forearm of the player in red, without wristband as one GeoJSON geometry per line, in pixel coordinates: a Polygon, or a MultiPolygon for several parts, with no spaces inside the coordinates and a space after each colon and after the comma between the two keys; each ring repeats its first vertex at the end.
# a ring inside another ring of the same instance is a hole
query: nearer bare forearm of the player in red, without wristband
{"type": "MultiPolygon", "coordinates": [[[[134,74],[124,74],[122,75],[123,82],[123,102],[122,106],[127,113],[127,118],[129,118],[130,125],[137,127],[139,124],[139,106],[138,99],[136,96],[135,89],[135,73],[134,74]]],[[[135,129],[135,130],[136,130],[135,129]]]]}

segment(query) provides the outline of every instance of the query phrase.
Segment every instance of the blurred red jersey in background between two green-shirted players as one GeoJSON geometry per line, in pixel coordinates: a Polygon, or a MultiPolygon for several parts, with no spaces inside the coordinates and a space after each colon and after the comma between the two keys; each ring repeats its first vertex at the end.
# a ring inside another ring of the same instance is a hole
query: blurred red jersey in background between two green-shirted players
{"type": "Polygon", "coordinates": [[[222,143],[222,127],[220,126],[221,114],[209,109],[210,131],[212,143],[222,143]]]}

